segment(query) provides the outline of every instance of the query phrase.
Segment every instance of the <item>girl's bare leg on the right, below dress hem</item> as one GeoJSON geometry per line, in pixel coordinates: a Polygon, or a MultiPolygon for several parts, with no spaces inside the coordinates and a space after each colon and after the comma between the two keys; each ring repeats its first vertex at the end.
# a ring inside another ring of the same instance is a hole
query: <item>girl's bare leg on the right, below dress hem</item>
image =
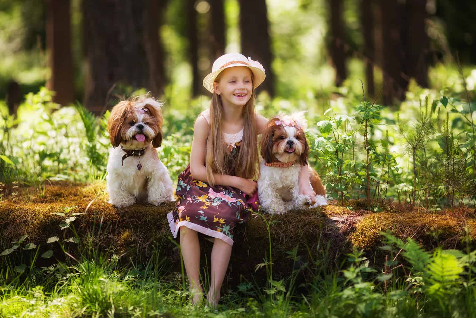
{"type": "Polygon", "coordinates": [[[211,275],[210,290],[207,294],[207,302],[210,306],[217,307],[220,300],[220,288],[227,273],[228,262],[231,256],[231,245],[222,239],[215,238],[211,250],[211,275]]]}

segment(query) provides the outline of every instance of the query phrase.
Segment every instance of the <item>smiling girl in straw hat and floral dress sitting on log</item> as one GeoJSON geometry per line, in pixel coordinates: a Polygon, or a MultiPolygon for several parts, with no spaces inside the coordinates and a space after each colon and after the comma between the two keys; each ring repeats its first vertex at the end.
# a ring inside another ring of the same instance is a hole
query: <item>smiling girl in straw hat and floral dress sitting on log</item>
{"type": "MultiPolygon", "coordinates": [[[[190,164],[178,176],[178,202],[167,215],[174,238],[180,235],[193,304],[198,304],[203,294],[198,232],[215,238],[207,302],[216,307],[231,255],[233,229],[248,219],[245,196],[253,196],[257,188],[251,180],[258,174],[257,136],[268,122],[255,114],[255,89],[265,77],[258,61],[230,53],[219,57],[203,80],[213,94],[210,108],[195,121],[190,164]]],[[[307,176],[307,182],[300,178],[300,192],[313,198],[307,166],[301,175],[307,176]]]]}

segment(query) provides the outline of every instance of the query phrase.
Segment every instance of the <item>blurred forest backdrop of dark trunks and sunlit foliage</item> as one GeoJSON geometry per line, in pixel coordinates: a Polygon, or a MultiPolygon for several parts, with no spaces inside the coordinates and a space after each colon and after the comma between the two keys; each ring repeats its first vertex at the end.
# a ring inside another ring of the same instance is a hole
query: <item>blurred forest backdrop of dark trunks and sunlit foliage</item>
{"type": "Polygon", "coordinates": [[[456,54],[476,64],[475,15],[451,0],[1,0],[0,99],[11,114],[46,85],[97,115],[139,88],[170,104],[205,94],[213,60],[238,51],[263,64],[272,97],[358,93],[362,78],[390,105],[412,78],[442,89],[432,68],[456,54]]]}

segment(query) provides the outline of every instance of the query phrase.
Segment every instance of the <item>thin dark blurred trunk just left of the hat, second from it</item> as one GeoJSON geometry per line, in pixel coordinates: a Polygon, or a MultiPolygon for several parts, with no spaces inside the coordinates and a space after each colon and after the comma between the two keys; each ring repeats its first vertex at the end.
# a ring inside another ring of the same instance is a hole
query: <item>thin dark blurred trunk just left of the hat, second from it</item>
{"type": "Polygon", "coordinates": [[[196,97],[202,89],[202,79],[198,73],[198,23],[195,0],[186,1],[188,60],[192,66],[192,96],[196,97]]]}

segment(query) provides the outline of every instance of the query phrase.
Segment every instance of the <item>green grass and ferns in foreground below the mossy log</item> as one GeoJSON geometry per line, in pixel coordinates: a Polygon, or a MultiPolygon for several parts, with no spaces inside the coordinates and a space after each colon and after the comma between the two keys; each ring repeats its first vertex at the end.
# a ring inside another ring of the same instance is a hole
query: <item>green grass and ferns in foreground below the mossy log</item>
{"type": "MultiPolygon", "coordinates": [[[[389,260],[401,249],[388,272],[371,268],[357,250],[339,267],[316,259],[324,253],[296,267],[293,275],[311,273],[307,283],[241,283],[216,309],[190,304],[183,273],[166,270],[159,247],[146,264],[103,254],[33,265],[10,284],[0,281],[0,317],[475,317],[475,251],[429,253],[411,239],[387,239],[389,260]]],[[[11,275],[7,259],[0,258],[0,272],[11,275]]]]}

